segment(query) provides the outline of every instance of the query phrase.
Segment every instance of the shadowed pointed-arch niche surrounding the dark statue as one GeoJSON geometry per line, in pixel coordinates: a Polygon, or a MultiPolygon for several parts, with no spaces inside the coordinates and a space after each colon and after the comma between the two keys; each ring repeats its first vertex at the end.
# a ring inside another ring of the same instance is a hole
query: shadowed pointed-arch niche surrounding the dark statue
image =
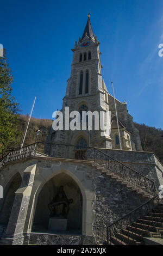
{"type": "MultiPolygon", "coordinates": [[[[82,234],[82,208],[83,198],[79,186],[71,176],[65,172],[57,174],[54,178],[46,182],[40,191],[37,199],[34,222],[32,231],[47,232],[51,211],[48,204],[56,200],[60,187],[63,187],[64,193],[70,203],[70,210],[65,218],[67,218],[67,233],[76,232],[82,234]]],[[[62,207],[60,205],[59,207],[62,207]]],[[[56,216],[54,218],[57,218],[56,216]]],[[[58,230],[59,231],[59,230],[58,230]]]]}

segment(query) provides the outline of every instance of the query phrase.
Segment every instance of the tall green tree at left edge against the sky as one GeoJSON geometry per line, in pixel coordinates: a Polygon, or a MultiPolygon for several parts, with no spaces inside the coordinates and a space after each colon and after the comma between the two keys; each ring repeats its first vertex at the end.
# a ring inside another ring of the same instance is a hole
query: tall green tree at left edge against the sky
{"type": "Polygon", "coordinates": [[[14,78],[7,62],[6,52],[0,57],[0,154],[19,145],[18,103],[11,95],[14,78]]]}

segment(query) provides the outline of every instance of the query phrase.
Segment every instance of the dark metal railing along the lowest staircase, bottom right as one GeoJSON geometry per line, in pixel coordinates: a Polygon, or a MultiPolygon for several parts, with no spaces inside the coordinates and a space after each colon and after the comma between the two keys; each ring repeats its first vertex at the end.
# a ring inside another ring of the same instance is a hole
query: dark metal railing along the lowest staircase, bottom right
{"type": "MultiPolygon", "coordinates": [[[[108,227],[106,228],[106,234],[107,234],[106,244],[112,245],[112,243],[114,243],[113,237],[114,239],[116,239],[116,235],[118,233],[123,234],[124,229],[129,230],[131,234],[131,235],[127,235],[127,233],[125,233],[125,235],[128,238],[130,238],[130,240],[128,240],[129,242],[127,243],[127,245],[132,245],[134,240],[136,240],[137,238],[139,240],[139,237],[145,236],[144,230],[142,229],[139,229],[139,233],[135,233],[134,231],[131,231],[131,229],[128,229],[128,228],[132,226],[133,223],[138,218],[142,217],[143,215],[148,215],[149,212],[150,212],[150,216],[154,217],[155,213],[153,212],[153,210],[156,208],[158,204],[162,204],[162,200],[159,198],[158,195],[156,195],[153,198],[149,199],[146,203],[137,207],[135,210],[129,212],[129,214],[119,218],[114,223],[111,223],[110,225],[108,225],[108,227]]],[[[162,218],[160,217],[160,221],[161,220],[162,218]]],[[[158,224],[158,221],[159,221],[158,219],[157,221],[155,220],[150,221],[150,225],[147,225],[146,231],[151,231],[151,226],[153,228],[156,227],[156,224],[158,224]]]]}

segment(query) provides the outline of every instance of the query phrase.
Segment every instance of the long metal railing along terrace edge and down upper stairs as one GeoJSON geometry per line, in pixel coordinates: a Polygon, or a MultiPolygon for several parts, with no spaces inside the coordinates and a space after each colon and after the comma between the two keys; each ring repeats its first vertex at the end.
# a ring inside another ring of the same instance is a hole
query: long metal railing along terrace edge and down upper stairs
{"type": "Polygon", "coordinates": [[[0,167],[10,161],[20,160],[30,156],[91,160],[108,172],[118,175],[118,177],[122,178],[123,181],[127,181],[128,185],[134,185],[136,188],[139,188],[143,192],[151,194],[152,196],[154,196],[156,191],[153,180],[148,179],[146,176],[134,169],[131,169],[97,148],[77,148],[76,145],[36,142],[9,152],[1,161],[0,167]]]}

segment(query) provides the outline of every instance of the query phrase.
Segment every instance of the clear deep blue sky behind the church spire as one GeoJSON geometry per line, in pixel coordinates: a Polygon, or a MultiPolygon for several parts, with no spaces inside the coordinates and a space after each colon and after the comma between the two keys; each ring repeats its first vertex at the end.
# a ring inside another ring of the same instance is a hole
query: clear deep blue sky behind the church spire
{"type": "Polygon", "coordinates": [[[163,129],[162,0],[1,0],[0,44],[14,75],[13,95],[22,113],[52,119],[61,109],[70,77],[74,42],[91,12],[102,52],[108,92],[126,99],[137,123],[163,129]]]}

